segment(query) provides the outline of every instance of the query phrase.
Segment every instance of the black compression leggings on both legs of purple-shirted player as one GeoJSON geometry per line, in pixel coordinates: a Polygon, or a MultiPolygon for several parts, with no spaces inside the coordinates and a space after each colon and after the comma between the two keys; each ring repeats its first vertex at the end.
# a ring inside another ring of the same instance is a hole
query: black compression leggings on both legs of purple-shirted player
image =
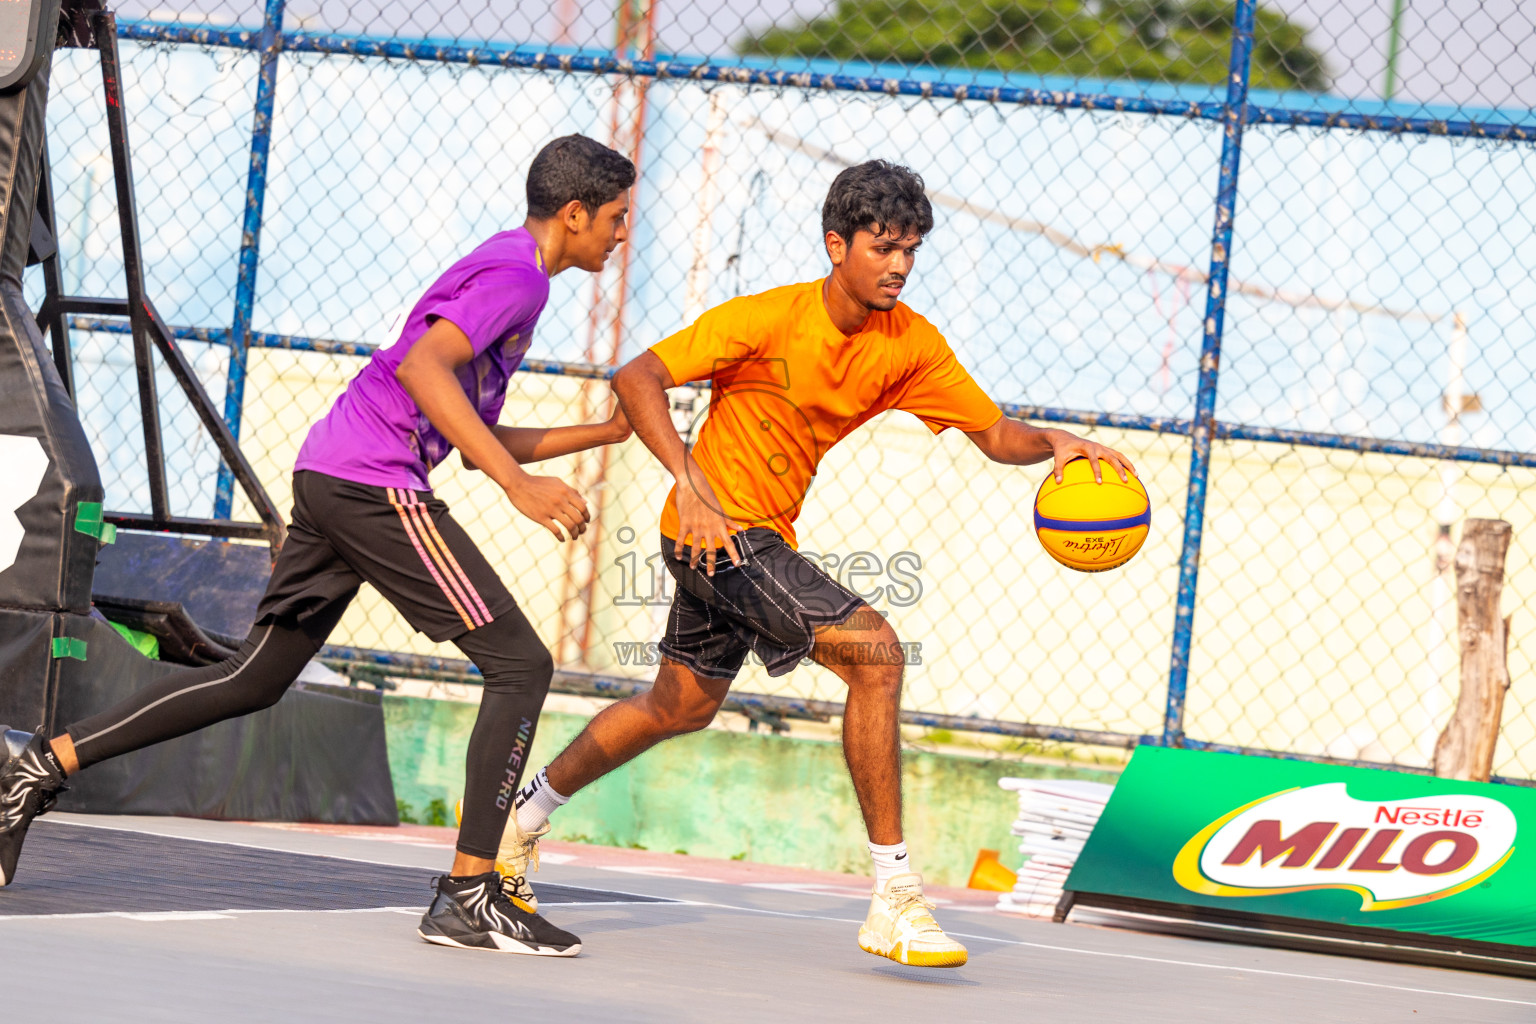
{"type": "MultiPolygon", "coordinates": [[[[347,600],[338,600],[303,622],[257,625],[229,660],[170,672],[115,708],[71,725],[66,732],[80,766],[270,708],[319,651],[346,606],[347,600]]],[[[453,643],[485,679],[465,758],[458,849],[488,858],[507,827],[554,662],[516,608],[453,643]]]]}

